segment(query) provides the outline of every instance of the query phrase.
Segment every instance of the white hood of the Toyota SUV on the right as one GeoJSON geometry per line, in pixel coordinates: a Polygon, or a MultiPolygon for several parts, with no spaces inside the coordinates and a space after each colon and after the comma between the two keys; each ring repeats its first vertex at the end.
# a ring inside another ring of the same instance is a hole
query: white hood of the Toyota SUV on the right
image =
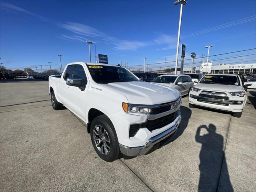
{"type": "Polygon", "coordinates": [[[209,91],[222,91],[222,92],[235,92],[235,91],[243,91],[242,86],[238,85],[220,85],[220,84],[203,84],[199,83],[194,86],[201,90],[209,90],[209,91]]]}

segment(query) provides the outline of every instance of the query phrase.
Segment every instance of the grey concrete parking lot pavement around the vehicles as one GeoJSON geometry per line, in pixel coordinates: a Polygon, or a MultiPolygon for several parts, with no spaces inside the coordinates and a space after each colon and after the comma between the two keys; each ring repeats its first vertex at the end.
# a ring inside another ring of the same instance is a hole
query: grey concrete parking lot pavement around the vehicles
{"type": "Polygon", "coordinates": [[[48,82],[0,82],[0,191],[255,191],[256,90],[241,118],[188,108],[172,142],[101,160],[70,111],[52,109],[48,82]]]}

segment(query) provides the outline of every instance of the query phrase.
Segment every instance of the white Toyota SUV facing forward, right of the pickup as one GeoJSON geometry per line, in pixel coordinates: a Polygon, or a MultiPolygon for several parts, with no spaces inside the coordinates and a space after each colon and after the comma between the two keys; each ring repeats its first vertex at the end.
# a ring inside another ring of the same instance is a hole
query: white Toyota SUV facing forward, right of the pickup
{"type": "Polygon", "coordinates": [[[230,111],[232,116],[241,117],[247,100],[243,86],[250,86],[237,74],[207,74],[189,94],[189,107],[202,106],[230,111]]]}

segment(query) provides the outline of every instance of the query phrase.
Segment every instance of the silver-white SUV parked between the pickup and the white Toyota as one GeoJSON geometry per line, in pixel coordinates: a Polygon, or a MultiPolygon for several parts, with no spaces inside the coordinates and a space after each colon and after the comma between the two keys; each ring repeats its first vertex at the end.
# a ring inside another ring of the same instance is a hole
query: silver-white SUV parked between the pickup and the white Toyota
{"type": "Polygon", "coordinates": [[[181,96],[188,95],[190,89],[194,86],[191,77],[185,74],[160,75],[151,82],[154,84],[164,85],[170,88],[177,89],[180,92],[181,96]]]}

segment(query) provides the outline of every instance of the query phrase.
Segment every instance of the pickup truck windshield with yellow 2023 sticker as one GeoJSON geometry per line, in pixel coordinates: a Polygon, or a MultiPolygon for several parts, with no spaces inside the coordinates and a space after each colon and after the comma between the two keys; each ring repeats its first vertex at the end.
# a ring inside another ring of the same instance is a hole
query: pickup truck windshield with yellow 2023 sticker
{"type": "Polygon", "coordinates": [[[106,65],[87,65],[96,83],[139,81],[131,72],[122,67],[106,65]]]}

